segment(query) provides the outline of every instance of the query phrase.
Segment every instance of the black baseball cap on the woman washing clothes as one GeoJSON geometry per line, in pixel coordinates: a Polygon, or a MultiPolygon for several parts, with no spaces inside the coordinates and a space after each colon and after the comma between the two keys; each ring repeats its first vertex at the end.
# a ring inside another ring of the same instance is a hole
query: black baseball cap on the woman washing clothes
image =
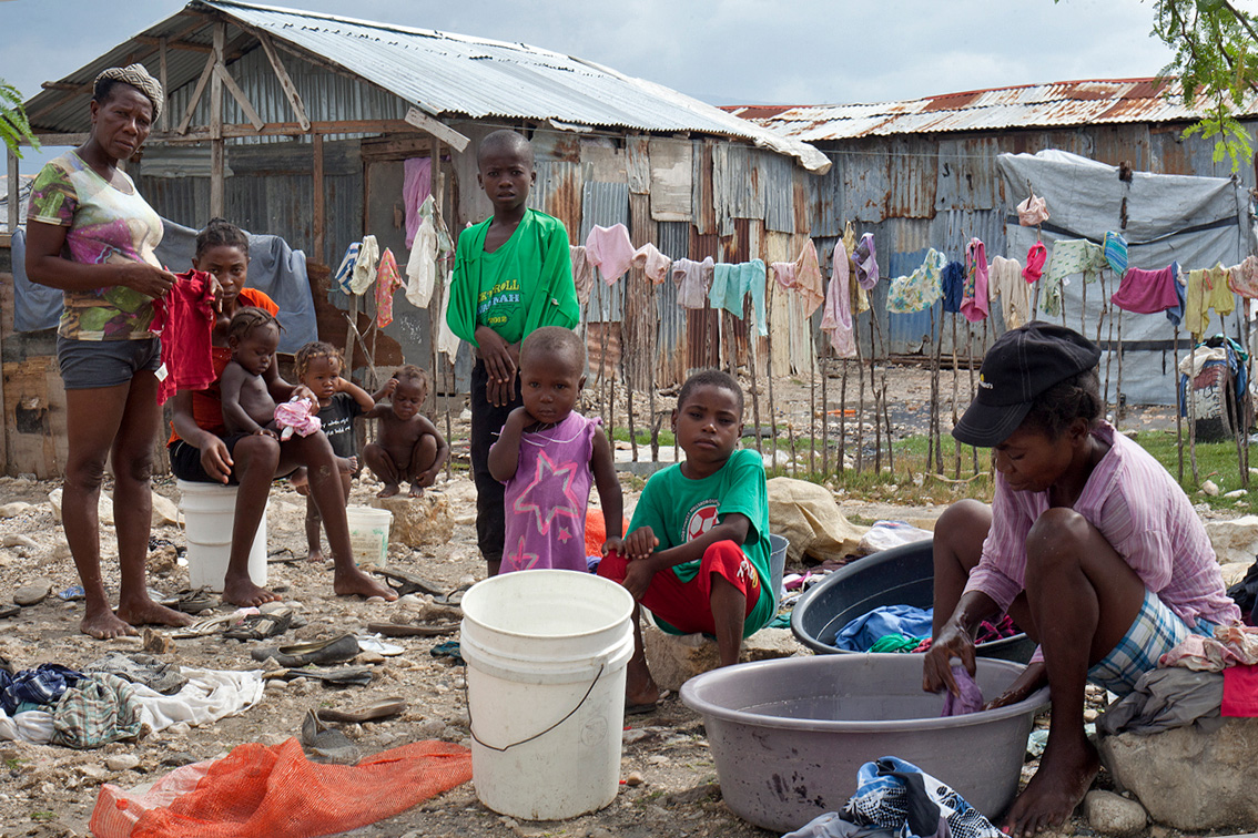
{"type": "Polygon", "coordinates": [[[1064,325],[1034,320],[1005,332],[984,357],[979,392],[952,436],[982,449],[1000,445],[1027,418],[1037,396],[1098,361],[1101,348],[1064,325]]]}

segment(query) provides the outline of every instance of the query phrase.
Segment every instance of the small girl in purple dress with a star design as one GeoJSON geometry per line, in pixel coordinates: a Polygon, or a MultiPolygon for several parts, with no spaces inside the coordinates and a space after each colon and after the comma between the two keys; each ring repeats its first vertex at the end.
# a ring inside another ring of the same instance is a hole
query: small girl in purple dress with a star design
{"type": "Polygon", "coordinates": [[[620,549],[623,499],[611,445],[598,417],[572,407],[585,386],[585,347],[571,330],[543,327],[520,348],[525,402],[489,449],[489,472],[506,484],[502,569],[586,572],[585,510],[591,482],[606,520],[608,550],[620,549]]]}

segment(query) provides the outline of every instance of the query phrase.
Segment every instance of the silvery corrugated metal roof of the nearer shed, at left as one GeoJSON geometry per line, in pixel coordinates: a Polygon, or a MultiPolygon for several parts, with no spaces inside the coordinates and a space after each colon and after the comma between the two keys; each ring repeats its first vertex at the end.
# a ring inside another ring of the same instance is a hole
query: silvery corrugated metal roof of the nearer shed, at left
{"type": "MultiPolygon", "coordinates": [[[[752,127],[677,90],[525,44],[233,0],[194,0],[182,13],[142,35],[179,35],[182,41],[209,44],[213,20],[204,13],[221,13],[238,28],[267,31],[313,60],[343,68],[433,116],[556,119],[647,132],[702,132],[749,139],[796,157],[810,170],[824,171],[829,165],[810,146],[752,127]],[[199,26],[187,13],[201,15],[199,26]],[[189,29],[190,25],[194,28],[189,29]]],[[[229,44],[234,43],[234,34],[229,28],[229,44]]],[[[130,60],[140,60],[157,74],[157,48],[132,39],[63,80],[87,84],[102,69],[130,60]]],[[[204,64],[203,53],[169,50],[171,89],[195,80],[204,64]]],[[[84,131],[83,102],[82,93],[50,89],[31,98],[28,109],[40,129],[84,131]],[[74,109],[69,109],[69,99],[75,101],[74,109]]]]}

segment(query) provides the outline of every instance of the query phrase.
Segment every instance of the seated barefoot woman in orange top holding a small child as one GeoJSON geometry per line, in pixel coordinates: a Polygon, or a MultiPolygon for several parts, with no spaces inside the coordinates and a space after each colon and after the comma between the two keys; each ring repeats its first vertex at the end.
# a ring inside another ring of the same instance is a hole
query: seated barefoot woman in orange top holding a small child
{"type": "MultiPolygon", "coordinates": [[[[274,315],[279,308],[262,291],[245,288],[249,269],[249,240],[233,224],[214,219],[196,236],[192,266],[218,278],[221,293],[216,300],[214,328],[214,372],[221,377],[231,358],[226,325],[239,309],[255,307],[274,315]]],[[[306,387],[293,386],[279,377],[272,357],[262,378],[277,403],[294,393],[313,398],[306,387]]],[[[340,596],[381,597],[394,601],[398,594],[386,584],[360,570],[353,563],[350,528],[345,518],[345,489],[336,455],[322,431],[294,435],[286,441],[267,433],[228,433],[223,422],[219,381],[206,389],[181,389],[171,400],[174,433],[170,466],[180,480],[238,485],[231,552],[223,580],[223,598],[237,606],[259,606],[279,596],[249,578],[249,549],[262,521],[270,481],[304,466],[309,494],[318,505],[332,548],[335,572],[332,589],[340,596]]]]}

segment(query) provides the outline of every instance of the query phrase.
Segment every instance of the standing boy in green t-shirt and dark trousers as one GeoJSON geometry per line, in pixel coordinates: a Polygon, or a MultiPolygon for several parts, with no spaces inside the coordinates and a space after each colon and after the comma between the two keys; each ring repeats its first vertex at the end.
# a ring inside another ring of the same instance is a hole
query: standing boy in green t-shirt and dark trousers
{"type": "Polygon", "coordinates": [[[472,344],[472,475],[477,540],[489,575],[502,564],[503,486],[489,474],[489,446],[523,402],[517,387],[520,343],[543,325],[576,327],[567,231],[530,210],[537,178],[533,150],[513,131],[494,131],[477,148],[477,183],[493,216],[459,235],[450,278],[450,330],[472,344]]]}

